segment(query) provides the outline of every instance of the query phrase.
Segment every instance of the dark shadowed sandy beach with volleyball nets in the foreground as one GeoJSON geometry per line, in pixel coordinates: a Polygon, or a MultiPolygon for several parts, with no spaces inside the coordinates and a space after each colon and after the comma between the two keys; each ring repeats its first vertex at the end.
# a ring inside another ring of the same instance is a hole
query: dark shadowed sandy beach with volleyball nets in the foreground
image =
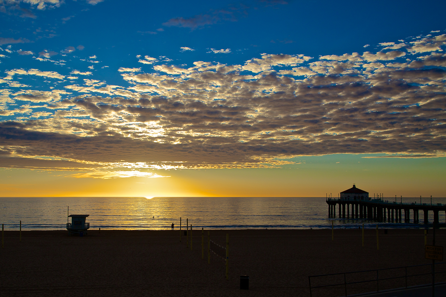
{"type": "MultiPolygon", "coordinates": [[[[428,244],[432,243],[429,230],[428,244]]],[[[60,231],[4,232],[0,249],[2,296],[310,296],[308,276],[324,273],[429,264],[423,229],[365,230],[211,230],[211,239],[230,240],[229,280],[224,260],[201,257],[201,230],[193,231],[193,249],[179,230],[89,230],[88,236],[60,231]],[[249,290],[240,290],[249,275],[249,290]]],[[[207,234],[207,232],[205,232],[207,234]]],[[[206,236],[205,236],[206,242],[206,236]]],[[[446,230],[436,232],[446,244],[446,230]]],[[[365,277],[365,276],[364,276],[365,277]]],[[[444,281],[438,277],[438,281],[444,281]]],[[[419,279],[409,285],[429,282],[419,279]]],[[[394,284],[396,281],[394,281],[394,284]]],[[[376,283],[349,288],[364,290],[376,283]]],[[[342,290],[319,289],[313,296],[340,296],[342,290]]]]}

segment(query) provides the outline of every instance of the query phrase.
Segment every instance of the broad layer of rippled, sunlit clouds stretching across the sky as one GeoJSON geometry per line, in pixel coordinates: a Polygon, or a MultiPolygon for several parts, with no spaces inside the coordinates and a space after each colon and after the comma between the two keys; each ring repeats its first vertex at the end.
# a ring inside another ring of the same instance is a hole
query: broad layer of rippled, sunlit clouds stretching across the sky
{"type": "Polygon", "coordinates": [[[265,53],[189,68],[141,54],[143,67],[110,69],[122,85],[72,69],[8,69],[1,162],[111,178],[275,167],[297,155],[444,155],[445,41],[437,32],[364,53],[265,53]],[[57,88],[38,90],[27,77],[57,88]]]}

